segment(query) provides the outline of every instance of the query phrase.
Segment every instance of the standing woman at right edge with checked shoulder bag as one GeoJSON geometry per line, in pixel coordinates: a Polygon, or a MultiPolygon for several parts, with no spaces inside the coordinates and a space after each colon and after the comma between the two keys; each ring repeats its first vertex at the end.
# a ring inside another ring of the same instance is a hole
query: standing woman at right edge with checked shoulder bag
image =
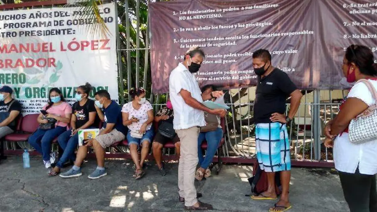
{"type": "MultiPolygon", "coordinates": [[[[377,66],[368,47],[349,46],[342,69],[349,83],[368,79],[377,89],[377,66]]],[[[335,168],[339,171],[343,194],[351,212],[377,211],[377,139],[354,144],[348,135],[350,121],[375,103],[367,86],[356,83],[340,106],[339,114],[325,126],[325,146],[334,146],[335,168]]]]}

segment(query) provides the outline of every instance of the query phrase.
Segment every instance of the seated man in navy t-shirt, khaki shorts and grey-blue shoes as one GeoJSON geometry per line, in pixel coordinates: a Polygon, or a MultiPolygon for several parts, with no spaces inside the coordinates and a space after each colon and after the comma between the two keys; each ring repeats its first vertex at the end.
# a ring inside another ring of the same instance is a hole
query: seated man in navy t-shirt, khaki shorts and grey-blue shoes
{"type": "Polygon", "coordinates": [[[93,146],[98,164],[97,169],[88,178],[98,179],[106,176],[107,172],[104,166],[105,148],[125,138],[126,127],[123,125],[120,105],[111,100],[110,94],[106,90],[96,92],[95,99],[95,108],[98,116],[104,122],[103,128],[100,130],[100,134],[94,139],[87,140],[86,145],[80,146],[75,165],[66,173],[61,174],[60,177],[70,178],[83,175],[80,166],[87,155],[89,146],[93,146]]]}

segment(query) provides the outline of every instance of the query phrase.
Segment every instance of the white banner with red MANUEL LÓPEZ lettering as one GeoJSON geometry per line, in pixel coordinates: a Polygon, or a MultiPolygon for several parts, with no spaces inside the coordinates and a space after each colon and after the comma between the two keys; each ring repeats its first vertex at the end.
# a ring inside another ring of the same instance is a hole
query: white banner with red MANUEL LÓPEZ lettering
{"type": "Polygon", "coordinates": [[[107,35],[91,33],[97,19],[80,12],[40,8],[0,13],[0,86],[14,89],[24,115],[39,113],[54,87],[72,104],[76,87],[86,82],[94,87],[91,97],[106,89],[118,101],[115,5],[100,6],[107,35]]]}

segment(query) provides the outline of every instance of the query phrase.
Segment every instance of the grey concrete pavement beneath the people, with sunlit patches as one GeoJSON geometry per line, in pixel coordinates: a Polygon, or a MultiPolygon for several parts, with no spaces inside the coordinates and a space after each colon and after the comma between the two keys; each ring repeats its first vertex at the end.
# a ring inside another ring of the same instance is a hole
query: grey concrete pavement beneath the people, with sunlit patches
{"type": "MultiPolygon", "coordinates": [[[[83,166],[83,176],[63,179],[48,177],[41,157],[31,158],[31,168],[22,167],[22,157],[12,156],[0,163],[1,212],[159,212],[183,211],[178,202],[178,163],[166,165],[168,174],[159,175],[153,161],[141,180],[134,180],[130,160],[106,160],[108,176],[87,178],[96,167],[94,160],[83,166]]],[[[66,171],[67,169],[63,169],[66,171]]],[[[267,212],[275,201],[255,201],[247,178],[252,166],[227,165],[219,175],[197,183],[200,200],[214,211],[267,212]]],[[[331,170],[294,168],[290,198],[291,212],[349,211],[339,177],[331,170]]]]}

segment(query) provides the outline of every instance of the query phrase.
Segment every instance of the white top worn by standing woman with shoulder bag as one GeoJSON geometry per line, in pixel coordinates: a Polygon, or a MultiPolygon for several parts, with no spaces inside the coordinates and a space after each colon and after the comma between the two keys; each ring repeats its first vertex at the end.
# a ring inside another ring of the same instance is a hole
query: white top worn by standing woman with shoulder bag
{"type": "MultiPolygon", "coordinates": [[[[369,80],[377,89],[377,81],[369,80]]],[[[368,106],[375,104],[368,87],[357,83],[349,91],[347,98],[354,97],[364,101],[368,106]]],[[[348,133],[344,132],[334,141],[335,168],[341,172],[355,173],[357,166],[361,174],[374,175],[377,173],[377,140],[363,144],[349,141],[348,133]]]]}

